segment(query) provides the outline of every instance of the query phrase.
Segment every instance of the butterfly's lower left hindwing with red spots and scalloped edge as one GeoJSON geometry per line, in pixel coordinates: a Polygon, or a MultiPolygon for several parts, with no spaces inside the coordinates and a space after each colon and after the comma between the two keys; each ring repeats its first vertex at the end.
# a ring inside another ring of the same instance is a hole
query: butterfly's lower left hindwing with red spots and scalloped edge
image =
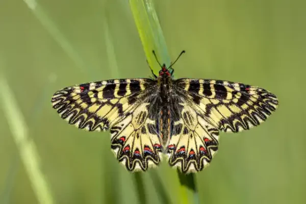
{"type": "Polygon", "coordinates": [[[111,127],[112,149],[129,171],[145,171],[160,163],[162,144],[157,114],[150,111],[154,106],[152,97],[111,127]]]}

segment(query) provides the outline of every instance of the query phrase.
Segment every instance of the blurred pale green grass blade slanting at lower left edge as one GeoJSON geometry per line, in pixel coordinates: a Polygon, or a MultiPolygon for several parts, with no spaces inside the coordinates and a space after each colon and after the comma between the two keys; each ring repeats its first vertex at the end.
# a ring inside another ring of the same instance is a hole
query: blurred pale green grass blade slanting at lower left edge
{"type": "Polygon", "coordinates": [[[0,76],[0,86],[3,88],[0,93],[0,101],[33,192],[39,203],[55,203],[46,178],[40,169],[40,158],[34,141],[29,137],[28,126],[24,122],[24,117],[3,73],[0,76]]]}

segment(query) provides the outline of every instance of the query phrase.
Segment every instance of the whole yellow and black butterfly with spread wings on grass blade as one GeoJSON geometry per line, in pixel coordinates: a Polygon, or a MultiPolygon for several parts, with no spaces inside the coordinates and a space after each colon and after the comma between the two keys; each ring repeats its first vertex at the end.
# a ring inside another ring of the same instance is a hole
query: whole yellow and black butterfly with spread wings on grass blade
{"type": "Polygon", "coordinates": [[[111,149],[127,170],[146,171],[166,155],[169,165],[183,173],[209,166],[220,132],[249,130],[277,108],[277,97],[256,86],[174,80],[174,63],[169,67],[159,63],[159,75],[151,69],[153,79],[106,80],[63,88],[53,95],[53,108],[79,129],[110,130],[111,149]]]}

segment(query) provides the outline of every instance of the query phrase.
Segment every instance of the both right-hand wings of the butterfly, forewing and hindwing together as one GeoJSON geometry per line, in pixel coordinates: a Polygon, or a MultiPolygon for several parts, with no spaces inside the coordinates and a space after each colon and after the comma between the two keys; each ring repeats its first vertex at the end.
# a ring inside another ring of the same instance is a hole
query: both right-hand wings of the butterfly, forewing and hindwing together
{"type": "Polygon", "coordinates": [[[239,132],[265,121],[277,108],[271,92],[250,85],[198,79],[173,83],[175,105],[172,135],[167,145],[170,166],[182,172],[200,171],[218,150],[219,131],[239,132]]]}

